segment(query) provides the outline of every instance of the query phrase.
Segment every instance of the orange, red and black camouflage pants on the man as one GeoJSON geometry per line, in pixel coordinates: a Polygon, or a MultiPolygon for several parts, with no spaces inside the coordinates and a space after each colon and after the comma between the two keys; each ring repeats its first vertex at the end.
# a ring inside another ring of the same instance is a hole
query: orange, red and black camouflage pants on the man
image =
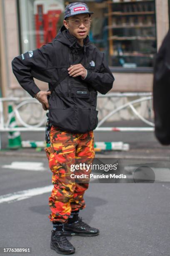
{"type": "MultiPolygon", "coordinates": [[[[93,131],[88,133],[69,133],[52,125],[50,147],[45,148],[54,185],[49,197],[50,221],[67,222],[71,211],[85,207],[83,195],[88,188],[89,179],[76,181],[70,178],[70,166],[77,163],[92,163],[95,156],[93,131]]],[[[76,171],[76,174],[90,174],[91,169],[76,171]]]]}

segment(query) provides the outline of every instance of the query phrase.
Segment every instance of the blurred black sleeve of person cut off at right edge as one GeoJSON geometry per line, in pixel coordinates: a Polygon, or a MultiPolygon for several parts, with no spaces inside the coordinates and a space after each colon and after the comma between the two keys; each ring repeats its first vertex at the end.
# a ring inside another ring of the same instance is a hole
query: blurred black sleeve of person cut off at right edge
{"type": "Polygon", "coordinates": [[[153,110],[155,136],[163,145],[170,144],[170,30],[163,40],[154,64],[153,110]]]}

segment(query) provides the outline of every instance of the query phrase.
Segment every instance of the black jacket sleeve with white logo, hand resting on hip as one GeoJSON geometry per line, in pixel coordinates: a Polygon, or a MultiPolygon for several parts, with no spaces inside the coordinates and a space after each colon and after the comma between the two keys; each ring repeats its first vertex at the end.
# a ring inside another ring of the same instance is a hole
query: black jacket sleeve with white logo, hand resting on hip
{"type": "Polygon", "coordinates": [[[32,69],[45,69],[50,55],[52,55],[52,46],[51,44],[46,44],[40,49],[21,54],[12,61],[15,77],[23,89],[32,97],[40,91],[34,82],[32,69]]]}

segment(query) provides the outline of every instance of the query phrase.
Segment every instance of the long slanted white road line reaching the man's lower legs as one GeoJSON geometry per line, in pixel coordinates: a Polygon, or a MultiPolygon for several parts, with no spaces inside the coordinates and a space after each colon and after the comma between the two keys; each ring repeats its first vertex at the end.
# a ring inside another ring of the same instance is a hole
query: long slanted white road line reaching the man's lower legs
{"type": "Polygon", "coordinates": [[[53,185],[46,186],[46,187],[37,187],[33,189],[27,189],[27,190],[22,190],[6,195],[1,195],[0,196],[0,203],[2,202],[15,202],[15,201],[20,201],[24,200],[30,197],[34,197],[36,195],[42,195],[48,192],[51,192],[53,188],[53,185]]]}

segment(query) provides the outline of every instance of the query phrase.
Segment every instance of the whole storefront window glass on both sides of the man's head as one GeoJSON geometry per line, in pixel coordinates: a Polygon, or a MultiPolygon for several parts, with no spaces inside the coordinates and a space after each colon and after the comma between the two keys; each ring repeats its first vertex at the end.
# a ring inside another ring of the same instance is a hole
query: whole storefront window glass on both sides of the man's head
{"type": "MultiPolygon", "coordinates": [[[[75,1],[19,0],[22,51],[41,47],[63,24],[65,5],[75,1]]],[[[77,1],[79,2],[79,1],[77,1]]],[[[157,51],[155,0],[91,0],[90,41],[111,67],[153,67],[157,51]]]]}

